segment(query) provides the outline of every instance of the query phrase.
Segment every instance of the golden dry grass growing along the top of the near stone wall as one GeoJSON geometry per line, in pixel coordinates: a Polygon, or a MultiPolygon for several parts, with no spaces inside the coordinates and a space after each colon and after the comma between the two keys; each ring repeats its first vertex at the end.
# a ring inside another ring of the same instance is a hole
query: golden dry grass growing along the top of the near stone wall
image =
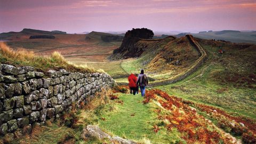
{"type": "Polygon", "coordinates": [[[82,73],[96,72],[94,69],[69,63],[59,52],[53,52],[50,57],[46,57],[36,55],[33,51],[12,50],[3,42],[0,42],[0,62],[14,66],[32,66],[41,71],[64,68],[69,71],[81,71],[82,73]]]}

